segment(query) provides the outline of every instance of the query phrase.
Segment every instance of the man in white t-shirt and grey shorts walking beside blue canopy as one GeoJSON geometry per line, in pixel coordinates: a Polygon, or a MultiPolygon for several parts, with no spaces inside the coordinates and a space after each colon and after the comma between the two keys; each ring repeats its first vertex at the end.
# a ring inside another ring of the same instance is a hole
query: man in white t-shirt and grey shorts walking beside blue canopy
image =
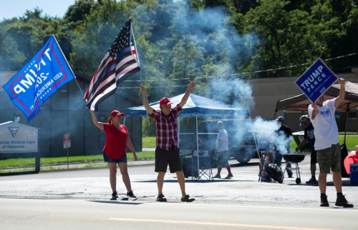
{"type": "Polygon", "coordinates": [[[219,133],[216,137],[216,151],[215,155],[218,158],[217,162],[217,174],[214,178],[221,178],[220,172],[221,169],[226,167],[228,170],[228,176],[225,177],[225,179],[229,179],[233,177],[233,174],[231,173],[230,164],[228,161],[228,153],[229,153],[229,135],[228,132],[224,129],[224,123],[222,121],[218,121],[216,124],[217,129],[219,130],[219,133]]]}

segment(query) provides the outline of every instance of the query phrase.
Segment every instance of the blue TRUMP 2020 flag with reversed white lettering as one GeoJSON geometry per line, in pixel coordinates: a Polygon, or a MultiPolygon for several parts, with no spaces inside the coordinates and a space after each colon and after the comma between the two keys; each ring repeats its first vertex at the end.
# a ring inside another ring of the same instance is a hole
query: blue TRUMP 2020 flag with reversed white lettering
{"type": "Polygon", "coordinates": [[[71,67],[52,35],[40,51],[2,88],[30,122],[40,106],[72,79],[74,74],[71,67]]]}

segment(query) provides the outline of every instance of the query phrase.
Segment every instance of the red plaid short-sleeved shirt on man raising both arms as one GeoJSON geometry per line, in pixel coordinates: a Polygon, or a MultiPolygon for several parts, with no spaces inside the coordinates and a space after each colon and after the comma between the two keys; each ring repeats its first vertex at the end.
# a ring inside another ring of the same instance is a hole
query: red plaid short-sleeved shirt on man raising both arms
{"type": "Polygon", "coordinates": [[[183,109],[179,106],[172,108],[168,116],[164,116],[161,110],[154,110],[150,116],[155,120],[157,127],[157,146],[161,149],[170,151],[171,146],[178,146],[177,136],[177,115],[183,109]]]}

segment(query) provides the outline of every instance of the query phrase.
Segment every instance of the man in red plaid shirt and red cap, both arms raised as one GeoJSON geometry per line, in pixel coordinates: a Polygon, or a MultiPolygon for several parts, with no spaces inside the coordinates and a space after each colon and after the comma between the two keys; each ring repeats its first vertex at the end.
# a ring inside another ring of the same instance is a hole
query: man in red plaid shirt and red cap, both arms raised
{"type": "Polygon", "coordinates": [[[183,174],[183,168],[181,165],[181,159],[178,148],[178,136],[177,136],[177,116],[183,110],[189,98],[190,92],[195,87],[195,82],[190,81],[188,88],[179,104],[172,108],[169,98],[164,97],[161,99],[159,105],[161,110],[154,110],[149,106],[148,97],[145,87],[141,84],[141,93],[143,95],[143,105],[146,108],[148,114],[154,119],[157,127],[157,148],[155,150],[155,172],[158,173],[157,186],[158,197],[157,201],[165,202],[162,189],[164,183],[164,175],[167,171],[169,164],[170,173],[176,173],[178,183],[181,190],[181,201],[192,202],[195,199],[190,198],[185,193],[185,178],[183,174]]]}

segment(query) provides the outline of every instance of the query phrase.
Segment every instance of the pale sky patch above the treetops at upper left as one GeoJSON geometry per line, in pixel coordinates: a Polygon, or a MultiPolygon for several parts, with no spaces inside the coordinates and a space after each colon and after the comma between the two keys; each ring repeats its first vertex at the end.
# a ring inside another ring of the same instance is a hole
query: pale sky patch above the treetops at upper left
{"type": "Polygon", "coordinates": [[[0,0],[0,21],[4,18],[22,17],[26,10],[33,11],[36,6],[42,9],[42,16],[47,14],[63,18],[74,2],[75,0],[0,0]]]}

